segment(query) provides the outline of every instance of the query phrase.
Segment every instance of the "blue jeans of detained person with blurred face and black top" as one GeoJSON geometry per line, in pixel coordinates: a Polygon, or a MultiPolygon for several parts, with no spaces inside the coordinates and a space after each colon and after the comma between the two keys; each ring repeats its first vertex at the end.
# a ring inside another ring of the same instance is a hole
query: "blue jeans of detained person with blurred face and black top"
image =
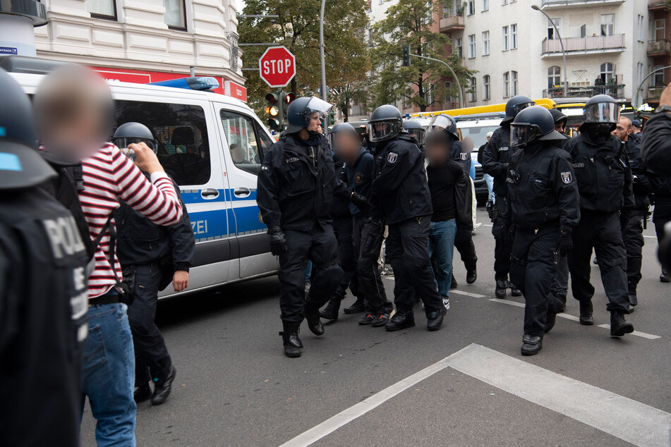
{"type": "Polygon", "coordinates": [[[454,236],[457,235],[457,221],[431,222],[429,229],[429,256],[435,259],[435,280],[438,293],[449,296],[452,283],[452,255],[454,255],[454,236]]]}

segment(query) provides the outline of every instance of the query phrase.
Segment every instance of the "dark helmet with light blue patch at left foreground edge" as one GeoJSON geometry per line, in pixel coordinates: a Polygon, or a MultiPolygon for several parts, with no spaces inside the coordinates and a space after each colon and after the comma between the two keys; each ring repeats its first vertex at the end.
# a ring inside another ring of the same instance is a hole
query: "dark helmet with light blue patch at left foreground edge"
{"type": "Polygon", "coordinates": [[[30,188],[55,177],[37,152],[30,99],[2,68],[0,92],[0,190],[30,188]]]}

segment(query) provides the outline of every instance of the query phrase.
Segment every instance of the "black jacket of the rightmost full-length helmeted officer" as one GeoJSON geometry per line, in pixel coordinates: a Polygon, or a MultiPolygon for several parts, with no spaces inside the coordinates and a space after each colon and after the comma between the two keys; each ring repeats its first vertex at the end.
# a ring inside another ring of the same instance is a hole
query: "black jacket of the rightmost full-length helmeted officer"
{"type": "Polygon", "coordinates": [[[598,141],[583,128],[581,132],[564,145],[578,180],[580,207],[598,212],[634,209],[631,168],[624,143],[613,135],[598,141]]]}

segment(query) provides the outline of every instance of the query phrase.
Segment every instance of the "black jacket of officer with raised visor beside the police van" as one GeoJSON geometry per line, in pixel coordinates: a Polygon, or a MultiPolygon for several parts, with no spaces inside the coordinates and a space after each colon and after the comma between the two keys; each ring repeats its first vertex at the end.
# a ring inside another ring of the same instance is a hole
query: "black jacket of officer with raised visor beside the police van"
{"type": "Polygon", "coordinates": [[[304,146],[296,134],[283,134],[270,147],[259,171],[257,203],[268,228],[312,231],[331,222],[334,193],[346,193],[336,179],[333,157],[323,135],[304,146]]]}

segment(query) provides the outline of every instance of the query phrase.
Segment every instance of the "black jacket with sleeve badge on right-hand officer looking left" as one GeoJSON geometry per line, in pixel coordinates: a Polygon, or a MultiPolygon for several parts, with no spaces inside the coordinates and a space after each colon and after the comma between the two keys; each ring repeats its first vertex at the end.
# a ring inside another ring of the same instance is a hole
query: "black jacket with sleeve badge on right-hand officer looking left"
{"type": "Polygon", "coordinates": [[[517,150],[507,183],[515,226],[536,229],[558,220],[560,230],[572,231],[578,225],[578,184],[566,151],[548,143],[517,150]]]}

